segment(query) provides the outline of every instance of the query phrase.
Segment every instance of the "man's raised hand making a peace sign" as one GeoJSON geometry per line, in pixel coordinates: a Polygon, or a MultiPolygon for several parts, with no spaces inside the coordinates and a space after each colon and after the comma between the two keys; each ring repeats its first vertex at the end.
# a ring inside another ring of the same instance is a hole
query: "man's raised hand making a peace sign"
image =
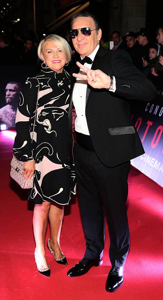
{"type": "Polygon", "coordinates": [[[93,88],[109,88],[110,77],[108,75],[103,73],[101,70],[89,70],[78,61],[76,64],[86,73],[86,75],[73,73],[72,75],[74,77],[87,80],[89,85],[91,85],[93,88]]]}

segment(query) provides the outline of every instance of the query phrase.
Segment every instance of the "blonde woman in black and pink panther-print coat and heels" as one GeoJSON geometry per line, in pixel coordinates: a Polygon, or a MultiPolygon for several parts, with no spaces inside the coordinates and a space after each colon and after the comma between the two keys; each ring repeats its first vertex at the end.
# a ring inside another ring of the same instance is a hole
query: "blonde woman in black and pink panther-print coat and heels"
{"type": "Polygon", "coordinates": [[[25,180],[34,173],[29,200],[35,203],[35,261],[39,272],[50,277],[45,251],[48,218],[48,248],[58,263],[67,264],[60,249],[63,205],[68,205],[71,193],[75,194],[76,188],[74,166],[70,164],[68,149],[70,80],[64,70],[65,64],[71,60],[71,48],[60,36],[49,35],[40,42],[38,56],[43,61],[41,72],[27,79],[20,94],[13,151],[24,162],[22,176],[25,180]],[[31,143],[38,88],[36,125],[31,143]]]}

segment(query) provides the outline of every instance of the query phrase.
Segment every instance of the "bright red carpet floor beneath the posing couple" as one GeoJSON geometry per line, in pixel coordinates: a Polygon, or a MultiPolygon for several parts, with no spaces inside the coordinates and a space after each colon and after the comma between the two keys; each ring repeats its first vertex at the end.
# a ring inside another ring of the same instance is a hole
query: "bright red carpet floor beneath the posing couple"
{"type": "MultiPolygon", "coordinates": [[[[66,272],[83,256],[84,234],[77,199],[66,207],[61,247],[67,266],[58,265],[47,249],[51,278],[36,270],[33,252],[32,203],[27,191],[10,177],[10,160],[15,133],[0,132],[1,158],[1,289],[3,300],[150,300],[163,299],[163,189],[136,169],[129,176],[127,201],[131,235],[130,253],[125,267],[124,284],[114,293],[105,291],[110,268],[106,241],[103,265],[93,267],[81,277],[69,278],[66,272]]],[[[49,227],[46,240],[49,237],[49,227]]]]}

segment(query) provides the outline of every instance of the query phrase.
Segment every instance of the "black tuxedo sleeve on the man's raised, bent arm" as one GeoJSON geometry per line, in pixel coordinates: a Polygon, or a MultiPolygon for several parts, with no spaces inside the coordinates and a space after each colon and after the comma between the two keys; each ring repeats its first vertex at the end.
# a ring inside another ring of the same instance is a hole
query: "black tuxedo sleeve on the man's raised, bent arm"
{"type": "Polygon", "coordinates": [[[123,49],[114,51],[111,69],[116,80],[115,95],[142,101],[151,101],[156,97],[155,86],[133,65],[127,51],[123,49]]]}

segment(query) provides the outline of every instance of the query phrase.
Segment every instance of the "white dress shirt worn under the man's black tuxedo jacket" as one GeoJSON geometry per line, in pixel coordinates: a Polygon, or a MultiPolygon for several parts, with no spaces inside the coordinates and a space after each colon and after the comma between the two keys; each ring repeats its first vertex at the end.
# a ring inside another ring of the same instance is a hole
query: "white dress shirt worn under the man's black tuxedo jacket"
{"type": "MultiPolygon", "coordinates": [[[[89,55],[92,61],[95,58],[96,53],[98,52],[99,45],[95,48],[95,50],[89,55]]],[[[83,59],[81,57],[81,59],[83,59]]],[[[84,64],[85,67],[91,69],[92,64],[84,64]]],[[[82,69],[79,70],[78,74],[86,74],[82,69]]],[[[89,129],[86,120],[86,89],[87,89],[87,81],[77,78],[74,84],[74,89],[72,93],[72,101],[74,103],[75,111],[76,111],[76,119],[75,119],[75,130],[82,134],[90,135],[89,129]]],[[[116,90],[116,82],[115,77],[113,76],[113,86],[109,91],[115,92],[116,90]]]]}

